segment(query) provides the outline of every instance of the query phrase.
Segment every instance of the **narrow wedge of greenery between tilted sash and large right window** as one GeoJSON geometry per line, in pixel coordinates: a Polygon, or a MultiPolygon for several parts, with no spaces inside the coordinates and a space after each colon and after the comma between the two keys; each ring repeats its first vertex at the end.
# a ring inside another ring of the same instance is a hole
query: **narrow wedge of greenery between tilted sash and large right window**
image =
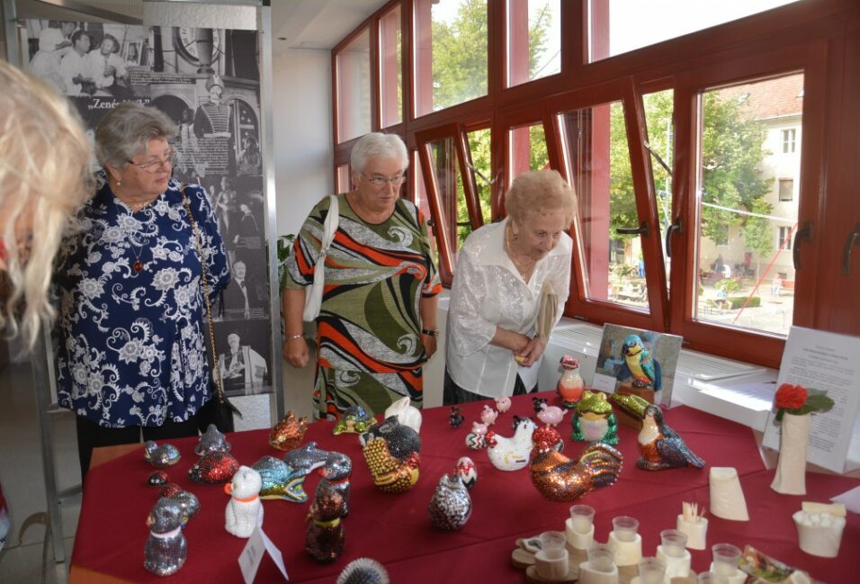
{"type": "MultiPolygon", "coordinates": [[[[666,232],[672,223],[672,167],[675,152],[675,128],[672,125],[674,95],[671,89],[642,95],[645,124],[648,128],[648,150],[654,176],[654,194],[657,196],[657,214],[660,224],[660,241],[663,242],[663,264],[666,266],[666,283],[669,283],[671,258],[666,253],[666,232]]],[[[636,252],[637,272],[644,274],[644,256],[636,252]]]]}

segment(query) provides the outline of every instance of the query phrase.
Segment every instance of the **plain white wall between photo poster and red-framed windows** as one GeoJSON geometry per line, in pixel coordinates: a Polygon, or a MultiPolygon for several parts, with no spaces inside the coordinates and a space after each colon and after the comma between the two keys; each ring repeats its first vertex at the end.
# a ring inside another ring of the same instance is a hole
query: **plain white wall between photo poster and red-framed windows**
{"type": "Polygon", "coordinates": [[[334,193],[331,53],[293,50],[273,62],[274,167],[281,236],[297,233],[313,205],[334,193]]]}

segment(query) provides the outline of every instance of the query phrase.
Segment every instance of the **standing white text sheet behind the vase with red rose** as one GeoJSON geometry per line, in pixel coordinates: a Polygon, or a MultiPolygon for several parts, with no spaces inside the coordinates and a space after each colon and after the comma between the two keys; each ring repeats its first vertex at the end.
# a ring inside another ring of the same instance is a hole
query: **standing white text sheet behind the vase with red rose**
{"type": "MultiPolygon", "coordinates": [[[[829,471],[845,472],[848,446],[854,431],[860,405],[860,337],[848,337],[823,330],[792,327],[785,341],[783,361],[776,387],[783,383],[802,385],[806,389],[827,391],[835,402],[828,412],[811,416],[807,462],[829,471]]],[[[772,408],[773,409],[773,408],[772,408]]],[[[762,445],[779,449],[780,427],[771,411],[762,445]]]]}

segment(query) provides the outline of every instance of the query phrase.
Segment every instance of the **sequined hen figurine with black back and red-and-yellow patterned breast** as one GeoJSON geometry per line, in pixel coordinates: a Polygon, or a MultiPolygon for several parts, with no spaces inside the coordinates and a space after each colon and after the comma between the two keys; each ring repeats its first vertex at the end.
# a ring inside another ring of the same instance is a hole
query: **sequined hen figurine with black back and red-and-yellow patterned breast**
{"type": "Polygon", "coordinates": [[[421,439],[397,418],[389,418],[373,430],[361,436],[373,484],[385,492],[406,492],[418,481],[421,439]]]}

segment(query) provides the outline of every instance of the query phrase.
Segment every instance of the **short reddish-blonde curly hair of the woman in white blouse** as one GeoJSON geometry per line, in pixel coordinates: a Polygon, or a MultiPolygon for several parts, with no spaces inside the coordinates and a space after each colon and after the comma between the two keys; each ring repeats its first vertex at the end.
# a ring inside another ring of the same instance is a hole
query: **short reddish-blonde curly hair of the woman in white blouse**
{"type": "Polygon", "coordinates": [[[531,213],[564,213],[570,226],[577,214],[577,195],[557,170],[532,170],[518,175],[505,195],[505,211],[513,220],[523,222],[531,213]]]}

